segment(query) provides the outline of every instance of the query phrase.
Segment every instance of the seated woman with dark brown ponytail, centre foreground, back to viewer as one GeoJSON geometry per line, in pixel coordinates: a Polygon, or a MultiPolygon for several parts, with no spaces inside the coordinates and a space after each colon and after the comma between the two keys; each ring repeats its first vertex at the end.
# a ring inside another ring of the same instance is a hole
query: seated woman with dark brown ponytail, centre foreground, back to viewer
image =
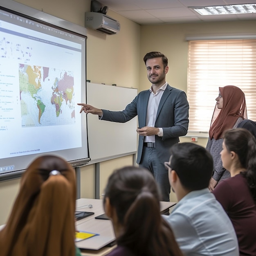
{"type": "Polygon", "coordinates": [[[146,169],[126,166],[112,173],[103,202],[117,247],[108,256],[182,256],[160,215],[159,200],[157,184],[146,169]]]}

